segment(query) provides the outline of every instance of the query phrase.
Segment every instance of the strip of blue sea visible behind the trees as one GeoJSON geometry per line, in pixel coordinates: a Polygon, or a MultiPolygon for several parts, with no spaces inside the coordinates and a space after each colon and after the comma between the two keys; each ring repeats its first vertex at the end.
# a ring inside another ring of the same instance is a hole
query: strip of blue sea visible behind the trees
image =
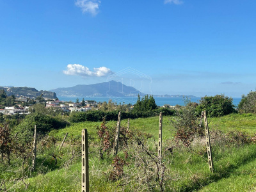
{"type": "MultiPolygon", "coordinates": [[[[59,100],[76,102],[81,100],[95,100],[96,102],[108,102],[112,100],[116,104],[135,104],[138,97],[58,97],[59,100]]],[[[184,106],[184,98],[182,97],[154,97],[157,106],[169,104],[170,106],[180,105],[184,106]]],[[[199,103],[200,97],[191,98],[191,102],[199,103]]],[[[242,98],[233,98],[233,104],[237,107],[242,98]]]]}

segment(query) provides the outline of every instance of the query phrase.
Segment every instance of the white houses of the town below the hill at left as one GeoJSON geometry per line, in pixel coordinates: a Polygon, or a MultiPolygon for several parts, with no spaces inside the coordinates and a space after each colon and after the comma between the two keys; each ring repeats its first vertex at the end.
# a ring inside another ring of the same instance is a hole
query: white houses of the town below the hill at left
{"type": "MultiPolygon", "coordinates": [[[[19,97],[16,99],[17,102],[26,103],[28,102],[28,98],[26,97],[19,97]]],[[[35,100],[36,102],[36,100],[35,100]]],[[[83,106],[82,103],[74,103],[74,102],[62,102],[60,100],[55,101],[47,101],[45,108],[53,108],[53,109],[60,109],[64,112],[72,112],[72,111],[88,111],[92,109],[92,106],[96,106],[97,102],[93,102],[92,104],[89,104],[87,100],[84,101],[83,106]]],[[[29,107],[6,107],[6,106],[0,106],[4,109],[0,109],[0,113],[3,113],[4,115],[15,115],[15,114],[29,114],[29,107]]]]}

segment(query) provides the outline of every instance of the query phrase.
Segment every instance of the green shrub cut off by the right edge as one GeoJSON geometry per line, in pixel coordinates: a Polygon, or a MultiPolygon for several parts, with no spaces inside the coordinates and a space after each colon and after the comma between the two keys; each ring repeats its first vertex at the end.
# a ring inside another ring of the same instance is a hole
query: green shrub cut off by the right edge
{"type": "Polygon", "coordinates": [[[242,95],[238,104],[240,113],[256,113],[256,92],[250,92],[248,95],[242,95]]]}

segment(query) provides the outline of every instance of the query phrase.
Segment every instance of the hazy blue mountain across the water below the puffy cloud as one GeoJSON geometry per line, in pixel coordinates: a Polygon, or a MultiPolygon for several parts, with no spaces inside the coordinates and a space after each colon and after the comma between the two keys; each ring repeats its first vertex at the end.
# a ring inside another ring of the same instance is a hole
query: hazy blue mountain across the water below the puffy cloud
{"type": "Polygon", "coordinates": [[[145,95],[132,86],[126,86],[120,82],[109,81],[97,84],[78,84],[68,88],[50,90],[58,97],[136,97],[145,95]]]}

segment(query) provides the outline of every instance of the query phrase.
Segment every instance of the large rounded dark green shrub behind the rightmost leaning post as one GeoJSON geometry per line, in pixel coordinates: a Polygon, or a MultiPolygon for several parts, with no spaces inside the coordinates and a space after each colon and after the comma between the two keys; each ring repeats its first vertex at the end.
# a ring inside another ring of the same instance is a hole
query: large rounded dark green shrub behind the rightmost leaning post
{"type": "Polygon", "coordinates": [[[202,111],[206,111],[209,117],[223,116],[236,112],[232,97],[225,95],[205,96],[199,102],[196,107],[197,115],[200,115],[202,111]]]}

